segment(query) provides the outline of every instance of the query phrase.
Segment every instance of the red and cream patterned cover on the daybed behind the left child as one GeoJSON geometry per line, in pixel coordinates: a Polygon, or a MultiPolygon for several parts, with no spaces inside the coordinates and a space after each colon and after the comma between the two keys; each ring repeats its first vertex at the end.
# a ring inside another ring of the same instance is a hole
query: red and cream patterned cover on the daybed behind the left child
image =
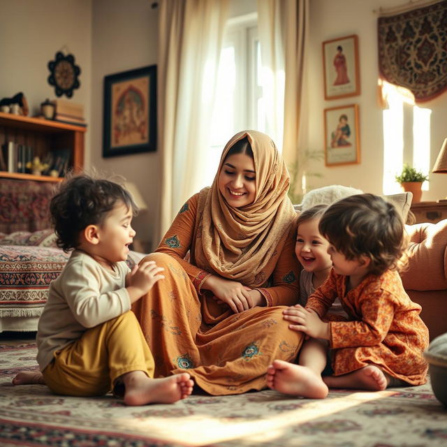
{"type": "Polygon", "coordinates": [[[40,316],[48,287],[70,257],[61,249],[2,246],[0,249],[0,317],[40,316]]]}

